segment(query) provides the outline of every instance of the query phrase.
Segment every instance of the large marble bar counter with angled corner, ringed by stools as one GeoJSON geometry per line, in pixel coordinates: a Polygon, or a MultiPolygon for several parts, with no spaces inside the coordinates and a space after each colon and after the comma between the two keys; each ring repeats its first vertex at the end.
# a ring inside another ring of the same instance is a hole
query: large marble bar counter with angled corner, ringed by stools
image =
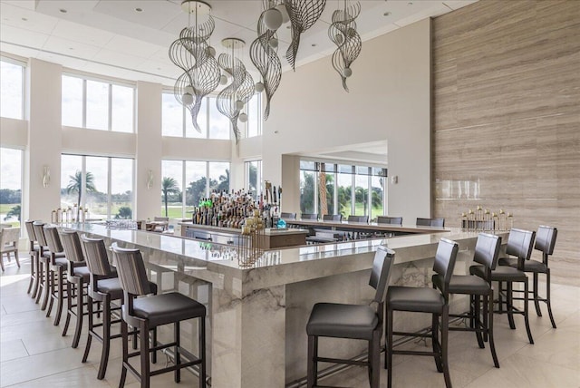
{"type": "MultiPolygon", "coordinates": [[[[208,306],[208,374],[211,386],[217,388],[284,387],[303,378],[305,325],[312,306],[321,301],[371,301],[368,270],[379,245],[395,251],[391,284],[426,286],[440,238],[457,241],[458,260],[468,266],[478,235],[448,228],[398,238],[268,250],[253,267],[243,267],[235,247],[94,224],[63,228],[104,238],[107,245],[118,242],[121,247],[139,248],[160,290],[177,290],[208,306]]],[[[456,268],[458,273],[465,269],[459,261],[456,268]]],[[[403,318],[402,324],[417,329],[429,325],[413,318],[403,318]]],[[[189,342],[197,349],[195,328],[188,327],[189,342]]],[[[320,349],[321,354],[354,356],[364,347],[341,342],[321,344],[320,349]]]]}

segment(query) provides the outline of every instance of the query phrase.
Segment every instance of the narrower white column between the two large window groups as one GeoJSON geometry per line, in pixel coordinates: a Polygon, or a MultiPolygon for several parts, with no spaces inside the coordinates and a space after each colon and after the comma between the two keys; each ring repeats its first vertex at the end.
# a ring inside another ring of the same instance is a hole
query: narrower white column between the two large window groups
{"type": "MultiPolygon", "coordinates": [[[[161,211],[161,85],[137,82],[137,149],[135,150],[135,219],[161,211]]],[[[113,171],[114,173],[114,171],[113,171]]]]}

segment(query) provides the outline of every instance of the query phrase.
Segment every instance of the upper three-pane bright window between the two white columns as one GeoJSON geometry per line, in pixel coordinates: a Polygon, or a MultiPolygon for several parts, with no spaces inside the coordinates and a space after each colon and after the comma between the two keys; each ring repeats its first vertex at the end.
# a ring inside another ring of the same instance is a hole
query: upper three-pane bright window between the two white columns
{"type": "Polygon", "coordinates": [[[63,74],[63,125],[133,132],[135,88],[63,74]]]}

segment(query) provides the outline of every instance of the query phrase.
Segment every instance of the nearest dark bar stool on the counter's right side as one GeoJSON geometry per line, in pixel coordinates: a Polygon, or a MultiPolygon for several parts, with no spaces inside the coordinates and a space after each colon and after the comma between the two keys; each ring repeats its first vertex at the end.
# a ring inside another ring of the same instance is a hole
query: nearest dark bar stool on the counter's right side
{"type": "Polygon", "coordinates": [[[379,387],[382,320],[384,295],[389,286],[389,275],[395,253],[388,247],[378,247],[372,262],[369,286],[376,290],[371,304],[342,305],[317,303],[312,309],[306,333],[308,334],[308,388],[317,385],[318,363],[351,364],[369,369],[369,383],[379,387]],[[367,361],[353,361],[318,356],[318,337],[350,338],[369,342],[367,361]]]}

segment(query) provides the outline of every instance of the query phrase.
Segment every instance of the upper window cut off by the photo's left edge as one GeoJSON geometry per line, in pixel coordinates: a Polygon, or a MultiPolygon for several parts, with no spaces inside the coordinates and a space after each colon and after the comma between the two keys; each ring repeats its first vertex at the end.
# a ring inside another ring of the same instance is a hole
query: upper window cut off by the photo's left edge
{"type": "Polygon", "coordinates": [[[24,119],[24,66],[0,61],[0,116],[24,119]]]}

